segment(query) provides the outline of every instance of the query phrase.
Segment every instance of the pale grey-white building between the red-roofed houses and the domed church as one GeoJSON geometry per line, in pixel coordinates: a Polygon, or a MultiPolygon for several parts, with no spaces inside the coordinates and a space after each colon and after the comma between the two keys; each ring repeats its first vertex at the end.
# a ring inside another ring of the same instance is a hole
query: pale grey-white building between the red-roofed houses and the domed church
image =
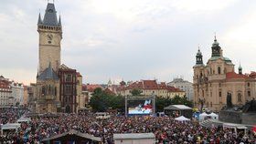
{"type": "Polygon", "coordinates": [[[171,87],[177,87],[180,90],[185,91],[187,99],[193,100],[193,95],[194,95],[193,83],[187,80],[184,80],[182,77],[180,77],[180,78],[174,78],[174,80],[169,82],[167,85],[171,87]]]}

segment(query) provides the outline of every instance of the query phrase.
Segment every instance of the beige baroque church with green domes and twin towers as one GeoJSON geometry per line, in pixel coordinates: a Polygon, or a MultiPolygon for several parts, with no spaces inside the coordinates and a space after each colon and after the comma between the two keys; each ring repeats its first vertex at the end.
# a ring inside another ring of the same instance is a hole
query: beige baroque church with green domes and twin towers
{"type": "Polygon", "coordinates": [[[228,94],[234,105],[242,105],[247,100],[256,98],[254,75],[243,74],[242,67],[236,73],[231,60],[223,57],[223,50],[216,37],[207,65],[204,65],[203,55],[198,49],[193,69],[194,104],[198,108],[219,111],[226,105],[228,94]]]}

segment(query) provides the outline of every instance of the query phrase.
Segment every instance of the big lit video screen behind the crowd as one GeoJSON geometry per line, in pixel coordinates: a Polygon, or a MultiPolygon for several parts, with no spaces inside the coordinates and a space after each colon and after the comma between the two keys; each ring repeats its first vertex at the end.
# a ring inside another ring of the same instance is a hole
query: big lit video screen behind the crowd
{"type": "Polygon", "coordinates": [[[145,115],[153,113],[152,99],[136,99],[127,101],[129,115],[145,115]]]}

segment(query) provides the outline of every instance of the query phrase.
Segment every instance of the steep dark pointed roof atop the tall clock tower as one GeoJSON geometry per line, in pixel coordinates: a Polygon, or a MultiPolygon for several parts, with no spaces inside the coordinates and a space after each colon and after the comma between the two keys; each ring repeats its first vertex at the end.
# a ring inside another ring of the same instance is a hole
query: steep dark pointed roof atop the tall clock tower
{"type": "Polygon", "coordinates": [[[56,10],[54,4],[48,3],[46,13],[43,20],[43,25],[45,26],[58,26],[58,19],[56,15],[56,10]]]}

